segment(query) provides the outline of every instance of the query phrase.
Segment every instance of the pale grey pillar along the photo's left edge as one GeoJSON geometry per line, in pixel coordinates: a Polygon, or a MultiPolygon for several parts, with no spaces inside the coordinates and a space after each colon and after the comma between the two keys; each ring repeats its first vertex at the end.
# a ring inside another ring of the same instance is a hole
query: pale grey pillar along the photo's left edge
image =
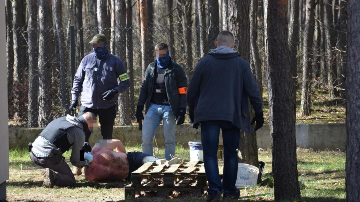
{"type": "Polygon", "coordinates": [[[9,179],[8,78],[6,70],[5,1],[0,1],[0,201],[6,199],[9,179]]]}

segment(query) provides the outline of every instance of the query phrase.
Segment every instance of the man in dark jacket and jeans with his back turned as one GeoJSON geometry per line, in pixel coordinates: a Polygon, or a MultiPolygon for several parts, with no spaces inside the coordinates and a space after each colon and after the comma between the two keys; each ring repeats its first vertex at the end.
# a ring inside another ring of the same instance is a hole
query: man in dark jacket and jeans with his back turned
{"type": "Polygon", "coordinates": [[[239,198],[235,187],[238,171],[237,148],[240,130],[253,133],[248,98],[255,111],[255,130],[264,124],[262,100],[248,61],[233,50],[234,36],[221,31],[216,49],[198,61],[189,82],[187,102],[193,127],[201,125],[204,166],[209,182],[207,201],[239,198]],[[224,175],[222,183],[217,165],[219,133],[224,143],[224,175]]]}

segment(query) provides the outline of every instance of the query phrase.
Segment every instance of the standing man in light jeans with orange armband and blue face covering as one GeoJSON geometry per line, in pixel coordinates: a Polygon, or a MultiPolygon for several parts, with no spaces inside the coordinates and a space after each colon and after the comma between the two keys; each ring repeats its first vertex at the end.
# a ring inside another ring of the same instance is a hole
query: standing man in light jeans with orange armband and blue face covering
{"type": "Polygon", "coordinates": [[[183,124],[188,80],[184,69],[171,61],[166,43],[155,46],[156,61],[149,64],[140,90],[136,119],[143,124],[143,153],[153,154],[152,140],[163,121],[165,158],[175,155],[176,125],[183,124]],[[145,118],[143,109],[146,106],[145,118]]]}

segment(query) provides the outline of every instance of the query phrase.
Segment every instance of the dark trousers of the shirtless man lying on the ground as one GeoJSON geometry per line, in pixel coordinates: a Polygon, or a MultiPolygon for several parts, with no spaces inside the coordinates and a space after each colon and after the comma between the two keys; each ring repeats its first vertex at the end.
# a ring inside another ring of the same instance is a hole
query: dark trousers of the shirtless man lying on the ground
{"type": "Polygon", "coordinates": [[[127,161],[129,161],[129,175],[126,180],[130,181],[131,173],[138,170],[143,164],[149,161],[155,161],[158,158],[143,152],[127,152],[127,161]]]}

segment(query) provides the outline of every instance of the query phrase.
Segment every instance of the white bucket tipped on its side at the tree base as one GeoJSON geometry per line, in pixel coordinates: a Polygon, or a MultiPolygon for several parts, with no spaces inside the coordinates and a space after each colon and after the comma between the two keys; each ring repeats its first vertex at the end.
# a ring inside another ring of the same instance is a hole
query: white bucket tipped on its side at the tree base
{"type": "Polygon", "coordinates": [[[239,163],[238,165],[238,178],[236,180],[236,188],[254,187],[257,184],[257,175],[259,169],[249,164],[239,163]]]}

